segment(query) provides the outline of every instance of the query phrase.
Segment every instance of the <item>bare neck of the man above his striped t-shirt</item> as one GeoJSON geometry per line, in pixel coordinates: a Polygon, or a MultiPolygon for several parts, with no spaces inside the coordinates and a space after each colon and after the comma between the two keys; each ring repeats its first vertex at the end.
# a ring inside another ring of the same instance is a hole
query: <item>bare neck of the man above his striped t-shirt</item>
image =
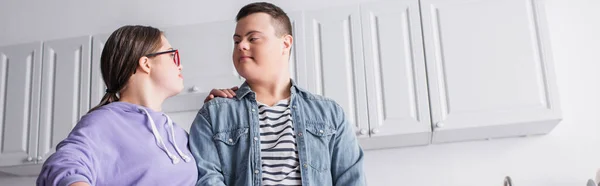
{"type": "Polygon", "coordinates": [[[270,82],[248,82],[248,85],[256,92],[256,101],[273,106],[280,100],[290,97],[292,81],[288,77],[270,82]]]}

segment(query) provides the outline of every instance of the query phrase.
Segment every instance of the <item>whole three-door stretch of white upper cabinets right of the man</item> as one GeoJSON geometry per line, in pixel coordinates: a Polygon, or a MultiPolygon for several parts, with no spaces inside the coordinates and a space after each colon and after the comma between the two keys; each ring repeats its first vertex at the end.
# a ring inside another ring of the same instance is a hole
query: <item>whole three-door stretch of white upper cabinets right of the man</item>
{"type": "Polygon", "coordinates": [[[548,133],[561,114],[543,3],[306,11],[308,89],[344,107],[365,149],[548,133]]]}

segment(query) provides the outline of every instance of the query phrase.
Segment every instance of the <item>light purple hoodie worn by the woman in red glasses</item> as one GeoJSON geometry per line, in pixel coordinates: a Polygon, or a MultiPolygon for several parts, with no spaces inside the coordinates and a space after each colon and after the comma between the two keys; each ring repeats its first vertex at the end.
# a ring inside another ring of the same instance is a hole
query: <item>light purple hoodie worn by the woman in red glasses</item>
{"type": "Polygon", "coordinates": [[[195,185],[188,134],[162,112],[113,102],[86,114],[46,160],[37,185],[195,185]]]}

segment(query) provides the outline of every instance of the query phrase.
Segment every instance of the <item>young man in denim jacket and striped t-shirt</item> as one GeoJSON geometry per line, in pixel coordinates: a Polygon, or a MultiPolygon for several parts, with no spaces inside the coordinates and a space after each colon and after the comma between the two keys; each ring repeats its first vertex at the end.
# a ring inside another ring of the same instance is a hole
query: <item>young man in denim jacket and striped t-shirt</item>
{"type": "Polygon", "coordinates": [[[197,185],[364,185],[363,152],[342,108],[290,79],[285,12],[252,3],[236,19],[233,64],[246,82],[205,103],[192,124],[197,185]]]}

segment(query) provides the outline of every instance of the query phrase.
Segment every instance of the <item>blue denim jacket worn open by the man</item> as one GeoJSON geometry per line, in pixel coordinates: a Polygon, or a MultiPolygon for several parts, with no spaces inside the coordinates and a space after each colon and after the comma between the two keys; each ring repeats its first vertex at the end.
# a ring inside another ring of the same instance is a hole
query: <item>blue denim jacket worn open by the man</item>
{"type": "MultiPolygon", "coordinates": [[[[290,109],[302,185],[365,185],[363,151],[343,109],[293,81],[290,109]]],[[[196,185],[261,185],[258,115],[256,94],[247,83],[234,98],[204,104],[189,139],[198,166],[196,185]]]]}

